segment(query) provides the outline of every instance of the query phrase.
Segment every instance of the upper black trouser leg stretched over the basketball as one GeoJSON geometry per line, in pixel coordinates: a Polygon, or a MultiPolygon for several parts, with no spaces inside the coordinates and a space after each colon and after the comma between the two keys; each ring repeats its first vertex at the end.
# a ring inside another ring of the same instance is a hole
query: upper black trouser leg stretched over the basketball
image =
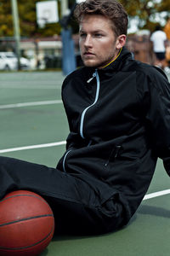
{"type": "Polygon", "coordinates": [[[86,183],[55,168],[23,160],[0,157],[0,183],[0,197],[9,190],[30,189],[65,201],[95,204],[95,196],[86,183]],[[84,198],[80,197],[80,189],[86,191],[84,198]]]}

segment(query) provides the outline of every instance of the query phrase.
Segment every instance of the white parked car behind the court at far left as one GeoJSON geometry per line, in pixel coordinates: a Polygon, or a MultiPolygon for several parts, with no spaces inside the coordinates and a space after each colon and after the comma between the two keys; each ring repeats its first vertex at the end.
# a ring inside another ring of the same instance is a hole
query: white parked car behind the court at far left
{"type": "MultiPolygon", "coordinates": [[[[14,52],[0,52],[0,70],[17,70],[18,59],[14,52]]],[[[24,57],[20,57],[20,68],[30,69],[30,61],[24,57]]]]}

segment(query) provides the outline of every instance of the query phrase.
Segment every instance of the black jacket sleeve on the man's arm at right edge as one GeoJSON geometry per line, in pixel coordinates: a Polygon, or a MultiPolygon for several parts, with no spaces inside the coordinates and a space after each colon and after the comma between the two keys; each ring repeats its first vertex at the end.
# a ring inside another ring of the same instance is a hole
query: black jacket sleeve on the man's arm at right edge
{"type": "Polygon", "coordinates": [[[152,68],[144,84],[145,122],[150,143],[170,176],[170,84],[152,68]]]}

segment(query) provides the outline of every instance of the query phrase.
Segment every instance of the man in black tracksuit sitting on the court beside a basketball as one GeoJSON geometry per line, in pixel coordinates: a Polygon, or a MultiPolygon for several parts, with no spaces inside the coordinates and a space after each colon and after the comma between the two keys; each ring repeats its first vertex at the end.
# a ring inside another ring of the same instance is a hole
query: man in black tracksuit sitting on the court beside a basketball
{"type": "Polygon", "coordinates": [[[57,230],[105,233],[139,207],[156,167],[170,174],[170,89],[156,67],[124,48],[127,13],[116,0],[77,5],[85,67],[66,77],[70,126],[57,168],[0,158],[0,195],[30,189],[54,210],[57,230]]]}

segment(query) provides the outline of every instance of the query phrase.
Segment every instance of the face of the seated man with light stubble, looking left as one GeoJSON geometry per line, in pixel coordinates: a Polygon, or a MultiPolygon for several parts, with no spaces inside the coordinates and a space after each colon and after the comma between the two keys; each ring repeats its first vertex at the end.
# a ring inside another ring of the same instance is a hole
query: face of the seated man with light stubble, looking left
{"type": "Polygon", "coordinates": [[[82,61],[87,67],[105,67],[123,46],[111,28],[111,20],[103,15],[84,15],[79,34],[82,61]]]}

